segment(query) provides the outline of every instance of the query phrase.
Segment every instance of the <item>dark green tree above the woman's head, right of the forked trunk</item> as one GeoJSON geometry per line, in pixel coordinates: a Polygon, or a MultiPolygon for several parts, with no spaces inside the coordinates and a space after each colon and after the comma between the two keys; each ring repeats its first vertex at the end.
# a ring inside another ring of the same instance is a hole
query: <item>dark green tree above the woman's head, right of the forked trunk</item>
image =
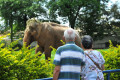
{"type": "Polygon", "coordinates": [[[96,2],[89,3],[81,10],[81,14],[77,18],[76,26],[80,27],[83,35],[91,35],[94,40],[102,39],[105,32],[105,22],[102,19],[105,4],[96,2]]]}

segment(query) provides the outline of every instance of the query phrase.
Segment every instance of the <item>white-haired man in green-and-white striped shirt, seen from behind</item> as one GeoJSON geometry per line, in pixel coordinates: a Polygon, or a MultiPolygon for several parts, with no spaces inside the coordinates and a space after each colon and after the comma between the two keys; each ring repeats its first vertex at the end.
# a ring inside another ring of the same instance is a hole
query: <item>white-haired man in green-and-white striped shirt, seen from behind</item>
{"type": "Polygon", "coordinates": [[[57,48],[53,80],[80,80],[81,66],[85,64],[84,51],[75,44],[73,29],[65,30],[63,38],[66,44],[57,48]]]}

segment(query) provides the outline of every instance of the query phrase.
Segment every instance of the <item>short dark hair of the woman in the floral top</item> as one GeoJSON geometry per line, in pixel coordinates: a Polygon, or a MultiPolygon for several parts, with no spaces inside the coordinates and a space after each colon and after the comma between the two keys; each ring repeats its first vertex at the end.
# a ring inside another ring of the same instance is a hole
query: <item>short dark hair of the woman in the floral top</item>
{"type": "Polygon", "coordinates": [[[85,35],[82,38],[82,45],[85,49],[91,49],[92,48],[92,44],[93,44],[93,39],[91,36],[89,35],[85,35]]]}

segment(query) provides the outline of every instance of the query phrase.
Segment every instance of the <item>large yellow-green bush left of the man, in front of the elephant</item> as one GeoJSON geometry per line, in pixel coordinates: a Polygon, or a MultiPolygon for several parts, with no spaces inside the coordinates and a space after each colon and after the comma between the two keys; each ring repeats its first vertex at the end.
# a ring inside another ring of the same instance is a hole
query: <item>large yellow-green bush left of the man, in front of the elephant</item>
{"type": "MultiPolygon", "coordinates": [[[[0,40],[2,40],[0,38],[0,40]]],[[[0,80],[32,80],[45,77],[52,77],[53,64],[46,61],[38,54],[32,54],[35,49],[28,50],[25,46],[21,50],[12,49],[17,41],[12,42],[8,47],[2,48],[0,44],[0,80]]]]}

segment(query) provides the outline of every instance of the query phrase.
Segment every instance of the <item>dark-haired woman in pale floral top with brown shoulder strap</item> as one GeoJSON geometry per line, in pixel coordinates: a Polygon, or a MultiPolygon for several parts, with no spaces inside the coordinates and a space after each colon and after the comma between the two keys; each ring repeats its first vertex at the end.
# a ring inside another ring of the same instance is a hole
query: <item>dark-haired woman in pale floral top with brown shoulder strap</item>
{"type": "Polygon", "coordinates": [[[81,47],[85,53],[85,65],[82,67],[82,80],[104,80],[102,71],[105,60],[101,53],[92,49],[93,39],[85,35],[81,41],[81,47]]]}

